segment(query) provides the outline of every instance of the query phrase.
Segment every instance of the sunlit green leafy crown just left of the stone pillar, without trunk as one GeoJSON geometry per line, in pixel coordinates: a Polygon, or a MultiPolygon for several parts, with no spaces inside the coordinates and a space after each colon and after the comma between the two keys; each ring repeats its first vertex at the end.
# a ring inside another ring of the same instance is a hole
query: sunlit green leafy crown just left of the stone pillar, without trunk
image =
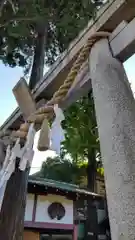
{"type": "Polygon", "coordinates": [[[82,97],[65,111],[63,152],[72,159],[88,159],[91,150],[99,153],[99,138],[92,93],[82,97]]]}

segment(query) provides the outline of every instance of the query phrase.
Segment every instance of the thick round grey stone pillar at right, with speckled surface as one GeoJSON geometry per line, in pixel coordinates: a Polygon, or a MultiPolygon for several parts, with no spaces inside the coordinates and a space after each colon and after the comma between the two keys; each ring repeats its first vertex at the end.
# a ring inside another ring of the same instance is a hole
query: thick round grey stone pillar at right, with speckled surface
{"type": "Polygon", "coordinates": [[[90,53],[112,240],[135,239],[135,100],[108,40],[90,53]]]}

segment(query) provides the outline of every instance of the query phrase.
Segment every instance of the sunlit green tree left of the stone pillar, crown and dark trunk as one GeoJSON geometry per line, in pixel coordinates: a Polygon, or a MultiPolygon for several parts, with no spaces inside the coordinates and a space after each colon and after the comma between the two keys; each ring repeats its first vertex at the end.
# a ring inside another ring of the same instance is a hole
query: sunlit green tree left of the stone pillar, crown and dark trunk
{"type": "Polygon", "coordinates": [[[65,141],[62,154],[70,154],[75,162],[87,160],[85,175],[87,186],[94,191],[96,171],[103,172],[100,161],[100,145],[92,92],[72,104],[65,111],[63,122],[65,141]]]}

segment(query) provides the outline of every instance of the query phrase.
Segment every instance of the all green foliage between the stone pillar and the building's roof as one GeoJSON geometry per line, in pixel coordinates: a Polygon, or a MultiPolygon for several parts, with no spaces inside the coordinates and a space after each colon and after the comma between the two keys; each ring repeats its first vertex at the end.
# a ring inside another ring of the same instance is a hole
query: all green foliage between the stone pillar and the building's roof
{"type": "Polygon", "coordinates": [[[48,158],[38,176],[83,187],[89,185],[92,190],[95,182],[91,174],[95,174],[97,170],[98,174],[103,175],[92,93],[82,97],[65,111],[62,125],[65,141],[62,143],[61,157],[48,158]],[[93,152],[96,153],[94,158],[93,152]]]}

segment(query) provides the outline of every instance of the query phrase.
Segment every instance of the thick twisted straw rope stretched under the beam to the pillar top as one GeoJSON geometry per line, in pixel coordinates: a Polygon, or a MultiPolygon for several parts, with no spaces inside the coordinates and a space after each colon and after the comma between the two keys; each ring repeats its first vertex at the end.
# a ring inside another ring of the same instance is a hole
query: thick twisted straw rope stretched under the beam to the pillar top
{"type": "Polygon", "coordinates": [[[32,114],[27,122],[21,124],[18,131],[13,131],[11,137],[17,137],[20,139],[26,139],[28,134],[29,126],[31,123],[42,124],[45,118],[50,118],[54,115],[53,106],[59,104],[68,93],[74,79],[76,78],[82,64],[88,58],[89,52],[92,46],[102,38],[108,38],[110,33],[108,32],[96,32],[88,40],[86,45],[81,49],[80,54],[78,55],[76,61],[74,62],[71,71],[69,72],[66,80],[63,85],[56,91],[50,101],[43,107],[40,107],[34,114],[32,114]]]}

